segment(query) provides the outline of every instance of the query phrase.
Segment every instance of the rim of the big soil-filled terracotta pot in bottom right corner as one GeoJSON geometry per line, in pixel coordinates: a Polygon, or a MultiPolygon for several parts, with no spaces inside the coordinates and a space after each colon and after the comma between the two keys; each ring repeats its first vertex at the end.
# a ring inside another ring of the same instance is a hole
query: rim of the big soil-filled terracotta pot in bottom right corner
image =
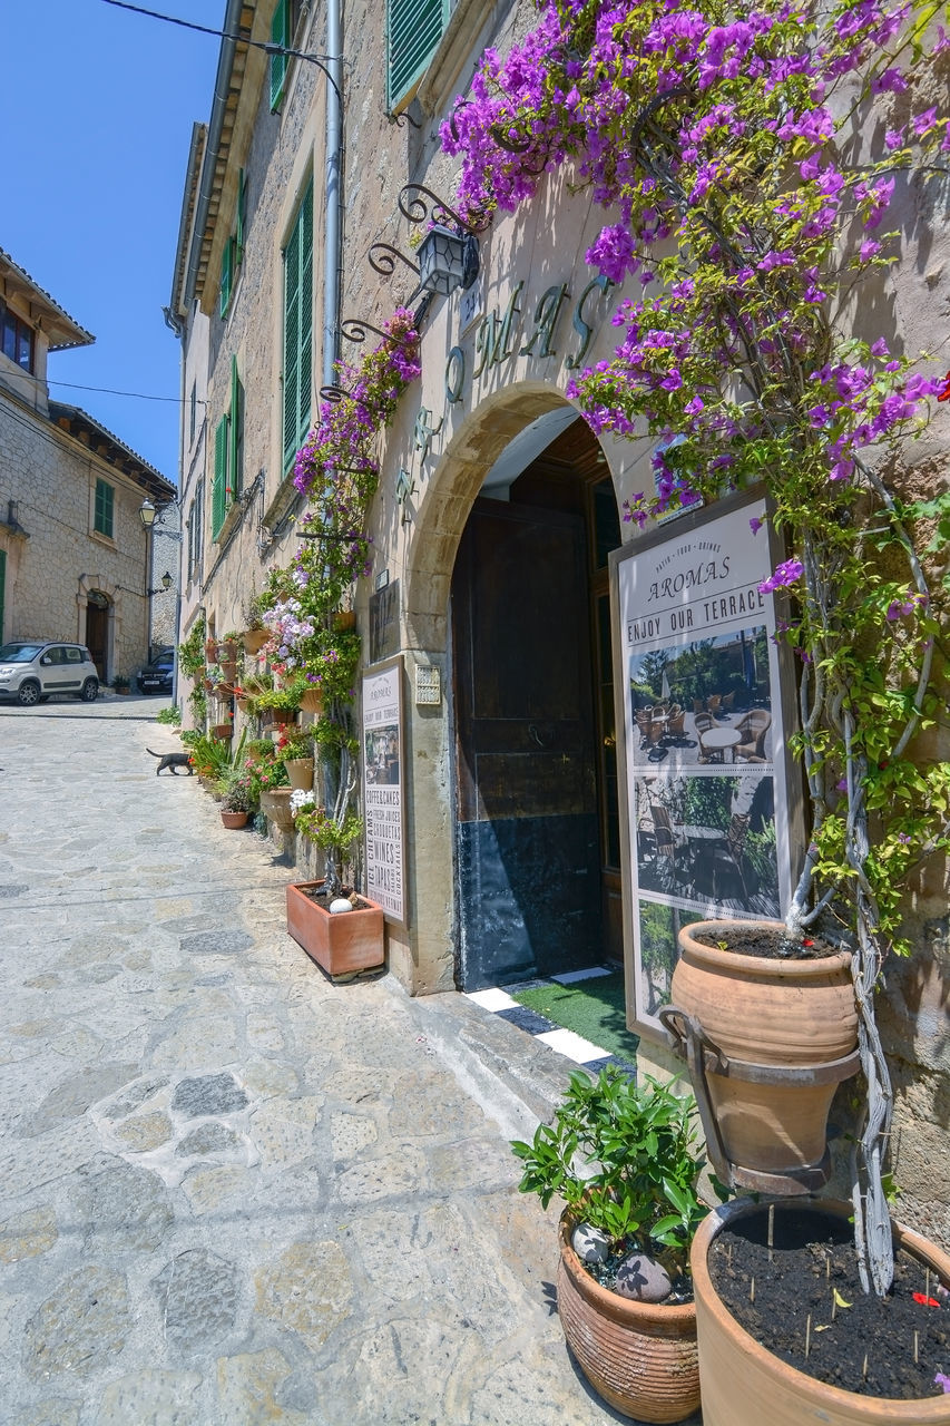
{"type": "MultiPolygon", "coordinates": [[[[723,1228],[727,1228],[739,1218],[763,1212],[772,1204],[776,1204],[779,1208],[797,1211],[802,1208],[816,1208],[820,1212],[834,1214],[840,1218],[849,1218],[853,1212],[850,1204],[844,1204],[836,1198],[760,1198],[757,1201],[752,1198],[735,1198],[729,1204],[713,1208],[696,1229],[690,1251],[693,1289],[696,1298],[702,1296],[703,1308],[713,1312],[720,1322],[726,1323],[725,1329],[735,1338],[736,1349],[743,1356],[750,1358],[759,1366],[765,1366],[777,1378],[783,1389],[797,1392],[809,1406],[827,1407],[829,1412],[842,1412],[847,1406],[853,1410],[857,1402],[860,1403],[862,1419],[870,1422],[872,1426],[892,1426],[892,1423],[893,1426],[927,1426],[927,1422],[933,1422],[934,1426],[943,1426],[947,1420],[946,1393],[904,1400],[894,1396],[863,1396],[857,1392],[846,1392],[840,1386],[829,1386],[827,1382],[819,1382],[816,1378],[799,1372],[797,1368],[789,1366],[782,1358],[769,1352],[760,1342],[756,1342],[736,1322],[713,1286],[708,1265],[709,1251],[723,1228]]],[[[913,1252],[914,1256],[923,1255],[931,1266],[936,1265],[940,1276],[950,1282],[950,1256],[947,1253],[937,1248],[936,1243],[931,1243],[930,1239],[923,1238],[910,1228],[903,1228],[894,1219],[892,1219],[892,1231],[899,1246],[913,1252]]]]}

